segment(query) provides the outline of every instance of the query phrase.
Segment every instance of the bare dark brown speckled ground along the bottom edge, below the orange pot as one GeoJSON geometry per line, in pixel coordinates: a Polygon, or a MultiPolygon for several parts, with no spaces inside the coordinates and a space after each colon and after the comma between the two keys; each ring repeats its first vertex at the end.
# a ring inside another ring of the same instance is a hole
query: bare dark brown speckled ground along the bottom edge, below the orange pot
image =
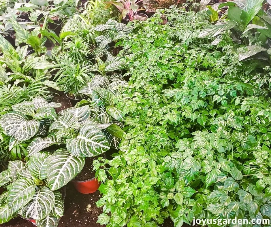
{"type": "MultiPolygon", "coordinates": [[[[61,217],[58,227],[101,227],[97,224],[98,216],[102,213],[102,208],[96,207],[95,203],[100,198],[100,192],[92,194],[80,194],[72,184],[67,185],[67,195],[65,198],[65,212],[61,217]]],[[[0,224],[1,227],[34,227],[34,225],[20,217],[10,220],[8,223],[0,224]]]]}

